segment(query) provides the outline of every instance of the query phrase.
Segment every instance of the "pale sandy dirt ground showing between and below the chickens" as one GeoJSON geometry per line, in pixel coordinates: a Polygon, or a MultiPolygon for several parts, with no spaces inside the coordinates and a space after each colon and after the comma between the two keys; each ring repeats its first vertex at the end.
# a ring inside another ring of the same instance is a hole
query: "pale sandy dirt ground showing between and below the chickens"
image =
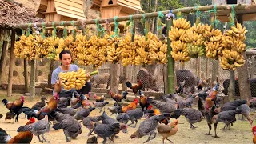
{"type": "MultiPolygon", "coordinates": [[[[19,98],[21,94],[14,94],[13,97],[7,98],[8,100],[10,99],[10,102],[13,102],[14,99],[19,98]]],[[[2,98],[6,98],[6,91],[1,91],[0,90],[0,100],[2,101],[2,98]]],[[[40,96],[36,96],[34,102],[29,102],[29,98],[25,98],[25,106],[33,106],[35,102],[39,101],[40,96]]],[[[49,96],[50,99],[50,96],[49,96]]],[[[107,99],[108,102],[110,102],[110,105],[113,105],[114,101],[107,99]]],[[[6,112],[8,111],[5,106],[0,106],[0,114],[5,115],[6,112]]],[[[107,114],[110,114],[108,110],[106,110],[107,114]]],[[[91,116],[99,115],[99,110],[96,109],[94,110],[91,114],[91,116]]],[[[114,118],[114,115],[113,117],[114,118]]],[[[238,119],[238,118],[237,118],[238,119]]],[[[18,129],[19,126],[25,125],[27,120],[24,117],[24,114],[21,114],[18,122],[9,122],[9,120],[6,120],[4,118],[0,119],[0,127],[8,134],[10,134],[11,137],[14,137],[16,134],[16,130],[18,129]]],[[[142,120],[139,120],[139,123],[142,122],[142,120]]],[[[174,136],[170,137],[170,140],[174,143],[252,143],[252,138],[253,134],[251,131],[251,126],[249,125],[249,122],[247,121],[240,121],[238,120],[237,122],[234,123],[234,126],[230,128],[230,130],[220,130],[224,125],[223,123],[218,124],[218,136],[220,138],[213,138],[212,136],[205,135],[208,132],[208,126],[206,124],[206,119],[203,119],[202,122],[198,122],[194,124],[194,126],[198,126],[197,129],[191,130],[190,125],[188,122],[186,122],[186,118],[183,116],[179,118],[179,122],[181,124],[178,125],[178,132],[174,136]]],[[[254,124],[255,125],[255,124],[254,124]]],[[[138,128],[138,126],[137,126],[138,128]]],[[[132,134],[137,128],[128,128],[128,134],[123,134],[120,132],[118,134],[119,138],[114,140],[114,143],[143,143],[146,141],[148,138],[143,137],[143,138],[134,138],[130,139],[130,134],[132,134]]],[[[49,133],[45,134],[45,137],[50,143],[56,144],[58,142],[61,143],[86,143],[87,140],[87,134],[89,130],[86,129],[86,127],[82,126],[82,134],[78,135],[78,138],[72,139],[71,142],[66,142],[65,140],[65,135],[62,130],[54,130],[50,129],[49,133]]],[[[93,133],[94,134],[94,133],[93,133]]],[[[214,130],[212,130],[212,134],[214,134],[214,130]]],[[[102,138],[98,138],[98,143],[102,142],[102,138]]],[[[39,143],[38,138],[34,137],[31,143],[39,143]]],[[[113,143],[108,140],[106,143],[113,143]]],[[[160,135],[157,135],[156,138],[151,140],[150,142],[147,143],[162,143],[162,137],[160,135]]],[[[166,141],[168,143],[168,141],[166,141]]]]}

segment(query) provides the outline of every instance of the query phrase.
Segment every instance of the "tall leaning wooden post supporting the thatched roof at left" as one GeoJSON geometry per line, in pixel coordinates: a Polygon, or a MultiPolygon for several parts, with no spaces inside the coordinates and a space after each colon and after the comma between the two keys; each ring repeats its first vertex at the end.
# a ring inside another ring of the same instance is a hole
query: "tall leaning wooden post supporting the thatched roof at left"
{"type": "Polygon", "coordinates": [[[7,97],[10,97],[13,89],[13,72],[14,72],[14,42],[15,42],[15,30],[11,31],[11,42],[10,42],[10,66],[9,66],[9,77],[8,77],[8,90],[7,97]]]}

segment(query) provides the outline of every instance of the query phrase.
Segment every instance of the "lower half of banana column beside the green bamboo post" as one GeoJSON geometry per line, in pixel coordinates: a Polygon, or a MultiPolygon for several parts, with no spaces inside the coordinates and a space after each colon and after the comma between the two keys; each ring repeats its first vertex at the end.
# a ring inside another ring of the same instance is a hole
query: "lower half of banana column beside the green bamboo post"
{"type": "Polygon", "coordinates": [[[180,61],[182,64],[190,60],[189,53],[187,52],[186,42],[181,40],[174,41],[170,43],[172,51],[170,52],[171,56],[174,58],[174,61],[180,61]]]}

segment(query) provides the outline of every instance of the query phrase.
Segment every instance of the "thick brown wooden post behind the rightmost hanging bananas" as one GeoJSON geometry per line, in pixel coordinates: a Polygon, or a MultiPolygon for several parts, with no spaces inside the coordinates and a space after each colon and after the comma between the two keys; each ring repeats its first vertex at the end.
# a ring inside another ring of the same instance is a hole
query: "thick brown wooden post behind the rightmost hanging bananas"
{"type": "MultiPolygon", "coordinates": [[[[243,26],[242,15],[238,15],[238,22],[243,26]]],[[[242,54],[246,59],[246,53],[242,54]]],[[[250,91],[250,82],[248,81],[248,63],[246,62],[242,67],[238,68],[238,81],[239,81],[239,90],[242,100],[249,101],[251,98],[250,91]]]]}

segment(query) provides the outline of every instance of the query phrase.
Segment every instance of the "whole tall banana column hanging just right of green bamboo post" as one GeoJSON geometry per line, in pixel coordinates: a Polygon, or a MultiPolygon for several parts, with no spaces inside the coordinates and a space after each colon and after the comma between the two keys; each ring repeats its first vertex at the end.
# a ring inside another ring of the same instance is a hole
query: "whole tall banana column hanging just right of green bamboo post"
{"type": "Polygon", "coordinates": [[[186,21],[185,18],[178,18],[173,20],[173,26],[171,26],[169,31],[170,46],[172,47],[170,54],[174,61],[180,61],[182,65],[190,60],[185,41],[186,30],[190,26],[190,22],[186,21]]]}

